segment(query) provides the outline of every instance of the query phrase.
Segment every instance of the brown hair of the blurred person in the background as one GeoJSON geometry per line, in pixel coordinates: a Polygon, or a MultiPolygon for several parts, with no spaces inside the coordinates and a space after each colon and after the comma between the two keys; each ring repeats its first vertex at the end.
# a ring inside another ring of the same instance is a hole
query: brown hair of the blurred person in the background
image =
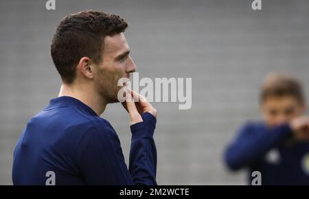
{"type": "Polygon", "coordinates": [[[301,82],[295,77],[282,73],[270,73],[262,83],[260,102],[269,96],[293,96],[299,103],[305,104],[305,96],[301,82]]]}

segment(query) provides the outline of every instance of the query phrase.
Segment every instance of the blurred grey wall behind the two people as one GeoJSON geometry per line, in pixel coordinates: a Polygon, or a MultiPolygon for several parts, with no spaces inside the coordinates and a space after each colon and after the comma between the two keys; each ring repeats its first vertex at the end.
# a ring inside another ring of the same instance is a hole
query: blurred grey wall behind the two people
{"type": "MultiPolygon", "coordinates": [[[[253,1],[253,0],[252,0],[253,1]]],[[[161,185],[244,184],[222,152],[247,120],[260,119],[258,88],[268,71],[291,72],[309,94],[309,1],[0,1],[0,184],[12,184],[14,146],[27,120],[58,95],[60,77],[49,43],[60,19],[80,10],[126,18],[126,38],[140,77],[192,77],[192,108],[154,103],[161,185]]],[[[111,122],[126,160],[128,116],[119,104],[111,122]]]]}

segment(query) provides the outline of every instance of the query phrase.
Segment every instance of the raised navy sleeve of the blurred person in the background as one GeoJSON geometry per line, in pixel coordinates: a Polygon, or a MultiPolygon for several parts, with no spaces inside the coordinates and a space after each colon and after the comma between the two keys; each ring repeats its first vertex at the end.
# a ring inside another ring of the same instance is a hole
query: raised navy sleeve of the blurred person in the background
{"type": "Polygon", "coordinates": [[[225,151],[225,163],[231,170],[250,166],[262,159],[268,150],[277,146],[290,135],[292,130],[288,124],[272,129],[254,128],[252,124],[240,129],[238,137],[225,151]]]}

